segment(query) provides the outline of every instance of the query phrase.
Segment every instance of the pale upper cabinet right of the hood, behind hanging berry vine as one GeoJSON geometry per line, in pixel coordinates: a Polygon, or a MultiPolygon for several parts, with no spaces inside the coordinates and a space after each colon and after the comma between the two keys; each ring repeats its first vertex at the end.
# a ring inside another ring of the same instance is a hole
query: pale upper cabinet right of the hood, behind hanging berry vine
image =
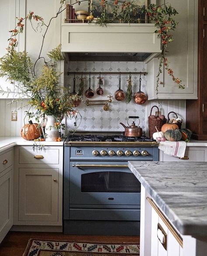
{"type": "Polygon", "coordinates": [[[197,99],[197,19],[198,0],[160,0],[159,4],[170,3],[178,11],[178,22],[172,33],[174,41],[167,47],[166,57],[175,77],[182,80],[185,89],[179,89],[167,70],[162,67],[159,77],[158,95],[156,81],[159,59],[147,63],[148,99],[197,99]]]}

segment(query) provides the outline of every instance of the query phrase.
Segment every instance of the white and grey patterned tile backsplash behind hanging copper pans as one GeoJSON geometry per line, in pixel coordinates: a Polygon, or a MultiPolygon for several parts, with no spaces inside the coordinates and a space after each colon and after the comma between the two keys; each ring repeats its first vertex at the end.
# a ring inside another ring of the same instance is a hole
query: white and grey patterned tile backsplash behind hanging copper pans
{"type": "MultiPolygon", "coordinates": [[[[66,70],[69,72],[145,72],[146,65],[143,62],[70,62],[66,66],[66,70]]],[[[104,111],[103,106],[86,106],[86,98],[83,95],[83,102],[77,109],[82,116],[82,120],[77,121],[80,123],[78,130],[92,130],[92,131],[123,131],[124,127],[120,125],[120,122],[127,124],[128,116],[139,116],[141,128],[147,132],[147,109],[151,108],[152,103],[157,105],[157,101],[146,102],[143,105],[137,105],[132,98],[131,102],[127,104],[126,100],[118,102],[114,98],[114,92],[119,88],[119,74],[101,74],[103,77],[103,95],[97,95],[96,89],[98,87],[98,75],[91,74],[91,88],[94,90],[94,97],[91,100],[108,99],[108,95],[113,95],[112,102],[110,104],[109,111],[104,111]]],[[[79,89],[79,78],[81,75],[76,75],[76,91],[79,89]]],[[[89,86],[89,75],[83,75],[84,91],[89,86]]],[[[132,75],[132,91],[133,94],[139,91],[139,74],[132,75]]],[[[73,74],[69,74],[66,77],[66,86],[73,86],[73,74]]],[[[121,74],[121,89],[126,93],[128,86],[129,74],[121,74]]],[[[141,91],[145,92],[147,75],[141,75],[141,91]]],[[[177,113],[185,118],[185,101],[166,101],[171,102],[173,109],[176,108],[177,113]],[[181,107],[181,108],[180,108],[181,107]]],[[[165,101],[162,102],[162,113],[164,108],[167,109],[165,101]]],[[[174,110],[170,111],[174,111],[174,110]]],[[[167,111],[167,110],[166,110],[167,111]]],[[[165,113],[167,114],[167,112],[165,113]]],[[[67,120],[67,129],[73,130],[74,120],[67,120]]],[[[129,124],[132,120],[129,120],[129,124]]],[[[138,124],[138,120],[136,120],[138,124]]]]}

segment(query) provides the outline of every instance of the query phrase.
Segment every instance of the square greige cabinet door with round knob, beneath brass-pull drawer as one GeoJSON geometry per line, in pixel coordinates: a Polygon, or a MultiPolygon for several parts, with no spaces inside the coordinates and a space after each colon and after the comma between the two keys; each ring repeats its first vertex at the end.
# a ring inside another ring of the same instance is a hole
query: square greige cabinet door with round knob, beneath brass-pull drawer
{"type": "Polygon", "coordinates": [[[58,221],[57,168],[19,168],[19,221],[58,221]]]}

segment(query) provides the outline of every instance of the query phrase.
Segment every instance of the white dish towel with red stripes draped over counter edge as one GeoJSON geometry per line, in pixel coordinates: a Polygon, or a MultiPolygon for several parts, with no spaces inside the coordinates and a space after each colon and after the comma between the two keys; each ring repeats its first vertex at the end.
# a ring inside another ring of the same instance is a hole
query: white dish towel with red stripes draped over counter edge
{"type": "Polygon", "coordinates": [[[178,158],[183,158],[186,151],[185,141],[160,141],[160,150],[164,151],[165,154],[169,154],[178,158]]]}

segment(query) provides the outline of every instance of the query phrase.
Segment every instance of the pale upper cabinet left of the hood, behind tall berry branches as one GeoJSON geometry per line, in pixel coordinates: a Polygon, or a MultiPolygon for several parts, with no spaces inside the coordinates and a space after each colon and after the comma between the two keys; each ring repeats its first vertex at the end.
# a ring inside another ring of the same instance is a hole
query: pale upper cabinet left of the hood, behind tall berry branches
{"type": "MultiPolygon", "coordinates": [[[[0,0],[0,22],[3,24],[1,28],[1,40],[0,40],[0,57],[7,53],[6,48],[8,47],[7,39],[10,38],[10,30],[13,30],[17,25],[17,18],[25,18],[27,14],[31,11],[35,15],[42,17],[45,21],[45,25],[41,26],[40,22],[36,22],[34,19],[26,21],[26,26],[22,34],[17,35],[18,46],[17,51],[26,51],[31,57],[32,63],[38,59],[38,56],[41,51],[40,57],[45,57],[45,61],[50,59],[47,56],[48,51],[51,51],[56,46],[61,43],[61,21],[64,18],[64,11],[60,13],[57,18],[55,17],[59,11],[60,0],[0,0]],[[50,22],[51,20],[51,22],[50,22]],[[50,22],[49,27],[48,24],[50,22]],[[35,31],[36,30],[36,31],[35,31]],[[47,30],[47,32],[46,32],[47,30]],[[46,32],[46,34],[45,34],[46,32]],[[44,43],[43,42],[43,36],[44,43]],[[42,49],[41,49],[42,47],[42,49]]],[[[23,24],[25,24],[23,22],[23,24]]],[[[35,67],[35,74],[40,74],[42,66],[44,65],[44,59],[41,58],[35,67]]],[[[63,62],[56,69],[59,72],[63,72],[63,62]]],[[[61,75],[60,83],[63,85],[63,75],[61,75]]],[[[6,81],[5,77],[0,77],[0,86],[3,90],[7,91],[7,88],[10,89],[11,93],[9,98],[19,98],[20,95],[18,82],[17,81],[6,81]]],[[[7,98],[7,95],[0,94],[0,98],[7,98]]]]}

